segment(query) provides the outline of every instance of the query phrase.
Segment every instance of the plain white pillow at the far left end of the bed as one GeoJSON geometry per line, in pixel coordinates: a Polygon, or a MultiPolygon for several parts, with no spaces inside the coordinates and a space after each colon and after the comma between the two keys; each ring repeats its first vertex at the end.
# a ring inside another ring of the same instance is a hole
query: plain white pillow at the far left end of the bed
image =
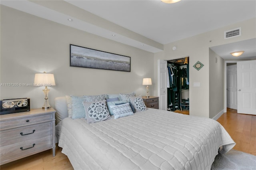
{"type": "Polygon", "coordinates": [[[66,97],[56,97],[54,99],[56,110],[56,123],[60,123],[64,118],[68,117],[68,107],[66,97]]]}

